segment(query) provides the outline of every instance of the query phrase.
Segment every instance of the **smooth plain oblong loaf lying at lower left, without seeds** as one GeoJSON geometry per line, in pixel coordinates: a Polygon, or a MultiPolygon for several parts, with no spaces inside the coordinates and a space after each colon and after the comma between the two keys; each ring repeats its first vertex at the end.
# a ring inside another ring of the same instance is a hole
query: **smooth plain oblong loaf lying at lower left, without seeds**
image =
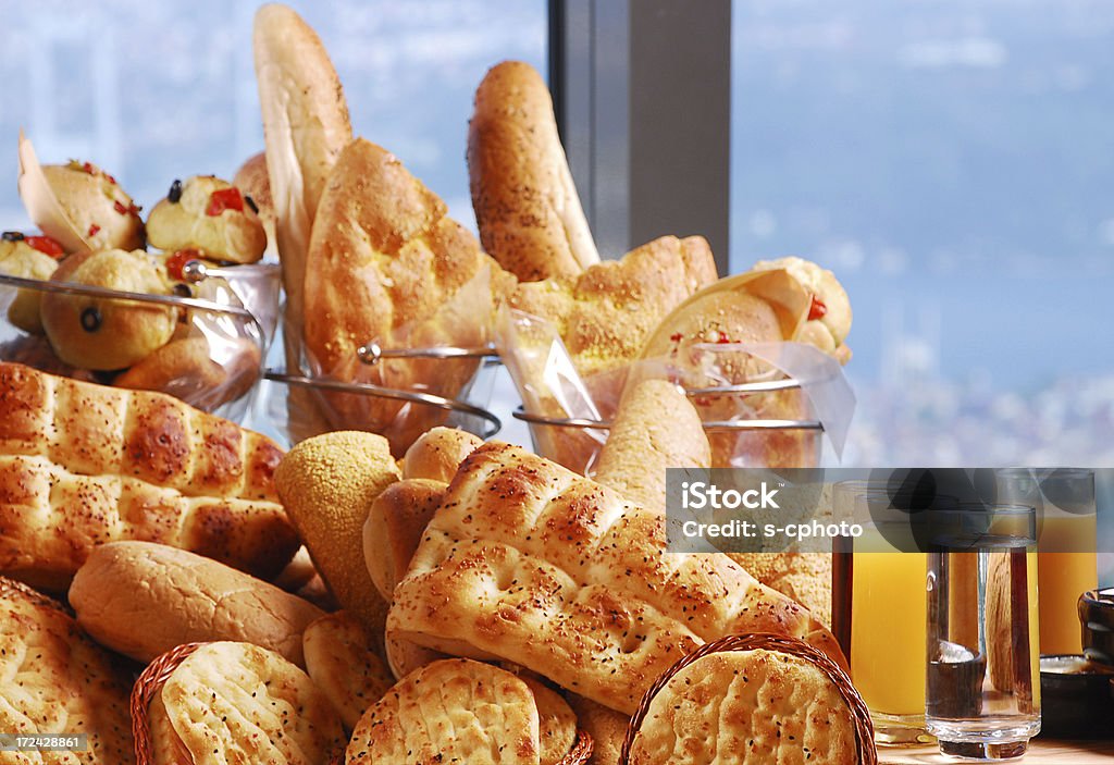
{"type": "Polygon", "coordinates": [[[186,643],[252,643],[305,666],[302,631],[321,609],[234,568],[152,542],[96,548],[69,591],[98,643],[148,663],[186,643]]]}

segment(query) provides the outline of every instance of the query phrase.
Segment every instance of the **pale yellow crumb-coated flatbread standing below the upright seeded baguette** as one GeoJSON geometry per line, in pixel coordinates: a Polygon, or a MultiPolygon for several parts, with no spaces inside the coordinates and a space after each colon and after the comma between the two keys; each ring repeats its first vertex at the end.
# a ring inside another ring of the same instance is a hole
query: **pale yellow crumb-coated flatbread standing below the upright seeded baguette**
{"type": "Polygon", "coordinates": [[[715,281],[700,236],[663,236],[571,278],[518,285],[509,305],[550,321],[582,377],[638,357],[674,306],[715,281]]]}

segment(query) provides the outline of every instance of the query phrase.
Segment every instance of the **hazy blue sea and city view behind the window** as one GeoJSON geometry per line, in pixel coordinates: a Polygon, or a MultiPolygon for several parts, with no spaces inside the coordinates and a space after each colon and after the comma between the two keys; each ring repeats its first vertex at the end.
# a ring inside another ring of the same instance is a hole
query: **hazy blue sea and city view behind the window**
{"type": "MultiPolygon", "coordinates": [[[[0,0],[0,226],[27,226],[20,127],[147,208],[231,176],[263,145],[256,4],[0,0]]],[[[292,4],[356,133],[473,226],[472,91],[545,71],[544,0],[292,4]]],[[[732,269],[799,254],[847,286],[844,464],[1114,467],[1114,3],[735,0],[733,51],[732,269]]]]}

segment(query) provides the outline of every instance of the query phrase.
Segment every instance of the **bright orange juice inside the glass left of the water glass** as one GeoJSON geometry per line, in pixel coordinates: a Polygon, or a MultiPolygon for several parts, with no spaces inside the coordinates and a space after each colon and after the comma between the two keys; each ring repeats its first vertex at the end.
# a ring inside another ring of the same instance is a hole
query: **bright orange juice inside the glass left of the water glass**
{"type": "Polygon", "coordinates": [[[856,552],[851,677],[871,712],[925,714],[927,556],[856,552]]]}

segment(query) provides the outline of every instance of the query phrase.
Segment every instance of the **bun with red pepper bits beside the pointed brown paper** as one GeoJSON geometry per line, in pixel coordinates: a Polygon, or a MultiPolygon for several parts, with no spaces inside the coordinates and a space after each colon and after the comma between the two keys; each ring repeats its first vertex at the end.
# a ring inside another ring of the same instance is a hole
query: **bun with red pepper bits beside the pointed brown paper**
{"type": "Polygon", "coordinates": [[[139,249],[144,246],[140,207],[116,178],[92,163],[71,159],[43,165],[50,190],[90,249],[139,249]]]}

